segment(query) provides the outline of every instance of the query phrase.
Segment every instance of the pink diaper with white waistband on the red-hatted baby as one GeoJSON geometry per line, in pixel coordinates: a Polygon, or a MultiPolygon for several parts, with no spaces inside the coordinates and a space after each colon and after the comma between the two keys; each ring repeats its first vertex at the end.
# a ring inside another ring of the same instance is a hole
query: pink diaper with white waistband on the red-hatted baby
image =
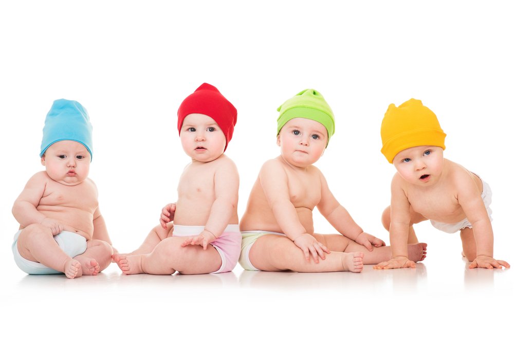
{"type": "MultiPolygon", "coordinates": [[[[173,235],[185,237],[197,235],[203,231],[205,226],[174,225],[173,235]]],[[[234,269],[241,253],[241,232],[239,225],[228,225],[221,236],[217,237],[211,245],[216,248],[222,258],[222,265],[213,273],[230,272],[234,269]]]]}

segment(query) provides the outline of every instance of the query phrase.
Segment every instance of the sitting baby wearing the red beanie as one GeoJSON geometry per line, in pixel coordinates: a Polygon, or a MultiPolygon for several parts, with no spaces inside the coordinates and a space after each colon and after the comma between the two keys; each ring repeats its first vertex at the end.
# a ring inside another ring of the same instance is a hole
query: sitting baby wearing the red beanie
{"type": "Polygon", "coordinates": [[[178,134],[191,163],[180,177],[177,202],[162,209],[160,225],[137,250],[113,255],[123,273],[219,273],[237,264],[239,176],[224,154],[236,121],[235,107],[210,84],[182,102],[178,134]]]}

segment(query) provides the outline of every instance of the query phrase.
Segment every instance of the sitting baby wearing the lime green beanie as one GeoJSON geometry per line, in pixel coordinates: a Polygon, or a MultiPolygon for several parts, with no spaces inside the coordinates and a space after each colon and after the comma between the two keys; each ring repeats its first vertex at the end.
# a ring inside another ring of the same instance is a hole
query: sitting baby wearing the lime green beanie
{"type": "MultiPolygon", "coordinates": [[[[247,270],[360,272],[364,263],[388,260],[391,248],[362,231],[313,166],[335,128],[323,96],[306,89],[278,111],[281,155],[264,163],[250,192],[240,224],[241,265],[247,270]],[[341,234],[314,233],[315,207],[341,234]]],[[[421,261],[425,255],[426,244],[409,246],[413,260],[421,261]]]]}

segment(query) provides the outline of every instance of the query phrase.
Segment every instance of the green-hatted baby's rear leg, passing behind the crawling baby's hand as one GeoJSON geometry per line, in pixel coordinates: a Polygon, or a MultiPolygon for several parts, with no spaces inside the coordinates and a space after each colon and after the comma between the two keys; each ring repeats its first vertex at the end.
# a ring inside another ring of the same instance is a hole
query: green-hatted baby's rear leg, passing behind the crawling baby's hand
{"type": "MultiPolygon", "coordinates": [[[[352,241],[348,237],[340,234],[319,234],[314,233],[316,239],[323,243],[330,251],[342,252],[362,252],[364,254],[365,265],[376,265],[377,263],[391,260],[392,252],[390,246],[373,247],[373,251],[368,250],[363,245],[352,241]]],[[[407,246],[408,258],[414,262],[423,261],[427,257],[427,244],[416,243],[407,246]]]]}

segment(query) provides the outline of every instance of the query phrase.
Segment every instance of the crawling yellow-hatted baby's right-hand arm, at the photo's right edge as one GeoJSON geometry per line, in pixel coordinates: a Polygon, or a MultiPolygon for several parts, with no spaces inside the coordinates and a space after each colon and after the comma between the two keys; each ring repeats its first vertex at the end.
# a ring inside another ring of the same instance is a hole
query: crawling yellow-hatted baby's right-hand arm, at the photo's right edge
{"type": "Polygon", "coordinates": [[[469,268],[502,268],[502,266],[509,268],[510,265],[507,262],[493,258],[492,225],[479,188],[467,173],[455,182],[458,203],[473,226],[476,243],[476,258],[469,268]]]}

